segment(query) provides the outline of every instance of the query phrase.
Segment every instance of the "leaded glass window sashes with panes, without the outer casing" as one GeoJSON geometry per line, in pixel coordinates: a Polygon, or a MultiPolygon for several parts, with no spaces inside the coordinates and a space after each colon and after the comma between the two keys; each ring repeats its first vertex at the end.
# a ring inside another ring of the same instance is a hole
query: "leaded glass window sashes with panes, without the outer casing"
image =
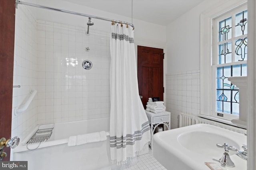
{"type": "Polygon", "coordinates": [[[234,10],[214,23],[215,112],[239,115],[239,89],[228,77],[247,76],[247,10],[234,10]]]}

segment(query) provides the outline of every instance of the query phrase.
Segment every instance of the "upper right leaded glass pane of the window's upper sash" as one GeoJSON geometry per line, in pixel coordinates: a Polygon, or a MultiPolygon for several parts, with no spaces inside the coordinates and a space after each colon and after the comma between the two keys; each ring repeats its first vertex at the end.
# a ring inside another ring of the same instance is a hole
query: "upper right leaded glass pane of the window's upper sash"
{"type": "Polygon", "coordinates": [[[236,37],[240,35],[247,34],[247,28],[248,25],[246,24],[248,22],[248,13],[247,10],[240,12],[239,14],[236,14],[236,37]]]}

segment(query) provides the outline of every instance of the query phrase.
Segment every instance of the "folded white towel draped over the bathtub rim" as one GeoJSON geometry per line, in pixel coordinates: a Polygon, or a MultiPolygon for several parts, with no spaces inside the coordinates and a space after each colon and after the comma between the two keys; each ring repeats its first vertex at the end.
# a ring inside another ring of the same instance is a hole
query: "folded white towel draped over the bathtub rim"
{"type": "Polygon", "coordinates": [[[86,143],[106,141],[106,132],[87,133],[84,135],[71,136],[68,138],[68,146],[82,145],[86,143]]]}

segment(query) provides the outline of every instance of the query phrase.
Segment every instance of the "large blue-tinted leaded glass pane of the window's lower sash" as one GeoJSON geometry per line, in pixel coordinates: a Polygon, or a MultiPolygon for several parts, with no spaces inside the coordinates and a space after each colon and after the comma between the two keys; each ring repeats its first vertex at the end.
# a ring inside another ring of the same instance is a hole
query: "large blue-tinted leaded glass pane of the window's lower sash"
{"type": "Polygon", "coordinates": [[[239,114],[239,89],[228,77],[246,76],[247,64],[217,67],[216,111],[239,114]]]}

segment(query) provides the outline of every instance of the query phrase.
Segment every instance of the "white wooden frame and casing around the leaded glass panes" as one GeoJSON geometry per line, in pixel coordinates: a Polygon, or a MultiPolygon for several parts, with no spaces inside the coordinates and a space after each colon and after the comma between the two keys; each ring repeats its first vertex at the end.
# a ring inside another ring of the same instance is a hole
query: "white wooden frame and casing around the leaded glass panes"
{"type": "MultiPolygon", "coordinates": [[[[224,117],[220,117],[217,116],[217,113],[215,112],[216,69],[219,66],[245,64],[247,61],[239,61],[222,65],[216,64],[218,61],[218,45],[214,46],[214,41],[218,42],[218,33],[214,33],[213,29],[216,23],[218,26],[218,21],[221,21],[221,19],[224,20],[227,16],[231,16],[229,14],[230,12],[239,13],[241,10],[246,9],[248,8],[247,1],[245,0],[240,2],[225,2],[214,10],[204,12],[200,15],[200,113],[198,115],[200,117],[207,117],[208,119],[221,121],[231,125],[234,124],[231,123],[230,120],[238,118],[238,115],[231,115],[228,113],[225,113],[224,117]]],[[[233,16],[234,14],[232,15],[232,20],[234,21],[233,16]]],[[[235,25],[234,22],[232,23],[235,25]]],[[[216,30],[218,30],[218,27],[216,30]]],[[[235,28],[233,27],[233,35],[235,32],[234,30],[235,28]]],[[[234,39],[238,38],[234,37],[234,39]]],[[[229,41],[231,41],[231,39],[229,41]]],[[[232,44],[232,51],[234,51],[233,47],[234,45],[232,44]]],[[[234,54],[232,54],[232,57],[234,57],[234,54]]]]}

